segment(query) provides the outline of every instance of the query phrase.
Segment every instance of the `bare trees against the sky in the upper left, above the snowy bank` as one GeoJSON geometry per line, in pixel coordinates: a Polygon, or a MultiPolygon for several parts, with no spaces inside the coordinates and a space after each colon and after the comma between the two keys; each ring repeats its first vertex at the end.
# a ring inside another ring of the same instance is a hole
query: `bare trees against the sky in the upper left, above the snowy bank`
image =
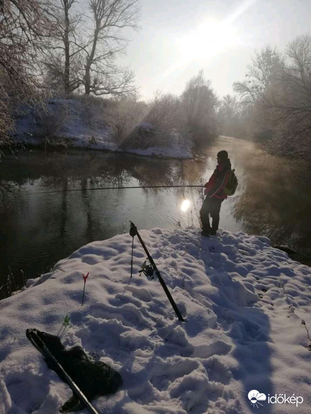
{"type": "Polygon", "coordinates": [[[115,59],[138,15],[138,0],[1,0],[0,144],[21,103],[134,94],[133,72],[115,59]]]}

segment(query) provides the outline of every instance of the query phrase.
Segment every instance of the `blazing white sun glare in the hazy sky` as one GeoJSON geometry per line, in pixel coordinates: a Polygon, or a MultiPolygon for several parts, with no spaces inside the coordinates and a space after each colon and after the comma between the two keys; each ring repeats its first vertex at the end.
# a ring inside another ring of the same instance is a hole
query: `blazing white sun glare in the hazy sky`
{"type": "Polygon", "coordinates": [[[240,43],[236,29],[228,21],[206,20],[178,39],[180,54],[187,61],[210,59],[240,43]]]}

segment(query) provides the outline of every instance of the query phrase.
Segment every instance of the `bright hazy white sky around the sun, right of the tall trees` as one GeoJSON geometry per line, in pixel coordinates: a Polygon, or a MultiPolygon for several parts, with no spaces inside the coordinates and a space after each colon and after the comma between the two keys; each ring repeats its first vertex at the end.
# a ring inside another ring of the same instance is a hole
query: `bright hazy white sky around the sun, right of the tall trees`
{"type": "Polygon", "coordinates": [[[122,64],[135,72],[142,99],[179,95],[203,70],[218,96],[245,77],[255,50],[283,50],[311,33],[310,0],[141,0],[140,30],[122,64]]]}

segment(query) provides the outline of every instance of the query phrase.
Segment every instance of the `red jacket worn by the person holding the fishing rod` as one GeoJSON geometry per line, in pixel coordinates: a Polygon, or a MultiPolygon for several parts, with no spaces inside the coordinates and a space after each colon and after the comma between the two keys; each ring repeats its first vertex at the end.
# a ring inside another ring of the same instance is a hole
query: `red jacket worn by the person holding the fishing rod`
{"type": "Polygon", "coordinates": [[[217,198],[217,199],[226,199],[227,195],[223,192],[223,188],[226,186],[229,174],[228,172],[231,170],[231,162],[229,159],[223,162],[220,161],[217,164],[216,169],[214,170],[213,174],[209,181],[204,184],[205,190],[204,194],[207,195],[208,198],[217,198]]]}

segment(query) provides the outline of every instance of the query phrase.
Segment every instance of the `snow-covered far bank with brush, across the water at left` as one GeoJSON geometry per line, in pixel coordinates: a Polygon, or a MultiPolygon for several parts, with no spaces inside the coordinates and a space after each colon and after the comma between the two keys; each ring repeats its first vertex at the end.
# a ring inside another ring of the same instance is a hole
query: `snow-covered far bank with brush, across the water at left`
{"type": "Polygon", "coordinates": [[[48,115],[41,110],[41,116],[25,108],[23,115],[16,119],[15,133],[12,139],[16,144],[28,146],[44,145],[42,137],[55,146],[70,148],[88,148],[91,150],[109,150],[131,152],[132,154],[167,157],[192,158],[191,148],[178,136],[171,137],[167,146],[147,149],[121,149],[115,143],[111,130],[104,124],[104,114],[92,114],[88,107],[75,99],[50,99],[48,115]]]}

